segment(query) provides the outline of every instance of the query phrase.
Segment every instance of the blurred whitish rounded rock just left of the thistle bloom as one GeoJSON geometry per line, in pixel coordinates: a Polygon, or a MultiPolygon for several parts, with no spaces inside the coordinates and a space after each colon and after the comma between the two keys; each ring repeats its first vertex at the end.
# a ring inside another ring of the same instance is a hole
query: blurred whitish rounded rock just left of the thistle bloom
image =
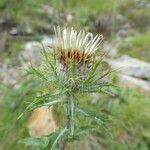
{"type": "Polygon", "coordinates": [[[27,67],[32,62],[33,65],[39,66],[42,60],[42,54],[40,53],[41,49],[42,44],[40,42],[32,41],[26,43],[25,50],[20,54],[24,60],[22,65],[27,67]]]}

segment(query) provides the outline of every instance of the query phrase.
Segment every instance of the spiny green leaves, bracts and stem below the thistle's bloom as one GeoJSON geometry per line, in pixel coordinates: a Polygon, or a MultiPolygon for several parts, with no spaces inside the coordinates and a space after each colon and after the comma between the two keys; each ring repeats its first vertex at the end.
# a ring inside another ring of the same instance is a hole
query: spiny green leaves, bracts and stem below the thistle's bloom
{"type": "MultiPolygon", "coordinates": [[[[60,104],[64,105],[66,108],[66,125],[63,125],[65,126],[64,129],[60,130],[54,140],[50,140],[53,142],[48,144],[47,147],[53,150],[60,139],[64,141],[66,145],[68,140],[74,141],[76,140],[76,136],[79,137],[80,134],[83,135],[86,133],[85,131],[89,131],[87,128],[85,130],[85,128],[76,125],[78,122],[76,117],[77,112],[88,117],[91,121],[94,121],[100,127],[108,131],[105,122],[102,121],[99,116],[80,108],[79,101],[82,101],[82,99],[78,98],[80,94],[89,95],[93,92],[112,95],[111,89],[114,88],[114,86],[111,83],[111,79],[108,78],[111,71],[106,69],[100,74],[97,72],[99,68],[103,68],[103,60],[100,58],[100,60],[95,60],[94,58],[92,66],[88,68],[88,72],[84,71],[87,67],[86,64],[80,66],[80,64],[73,60],[68,63],[67,70],[61,70],[59,69],[59,65],[61,64],[57,62],[59,56],[55,51],[43,48],[42,53],[44,60],[41,67],[37,69],[31,66],[28,70],[29,74],[35,76],[37,80],[40,81],[39,86],[43,87],[41,88],[42,93],[41,96],[37,97],[35,101],[31,102],[31,104],[26,107],[25,112],[32,111],[41,106],[54,107],[60,104]],[[76,133],[78,129],[81,131],[76,133]]],[[[96,124],[91,126],[92,130],[99,130],[96,124]]],[[[56,133],[54,132],[53,134],[55,135],[56,133]]],[[[28,140],[23,141],[25,141],[27,145],[33,145],[35,142],[34,140],[31,143],[27,143],[28,140]]]]}

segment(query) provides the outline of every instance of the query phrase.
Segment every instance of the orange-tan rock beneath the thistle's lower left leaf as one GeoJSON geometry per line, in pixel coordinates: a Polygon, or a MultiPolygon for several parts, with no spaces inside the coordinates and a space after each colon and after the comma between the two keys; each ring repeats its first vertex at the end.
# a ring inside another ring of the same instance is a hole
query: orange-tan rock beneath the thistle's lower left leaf
{"type": "Polygon", "coordinates": [[[48,135],[58,128],[52,115],[52,109],[47,106],[35,109],[27,126],[32,137],[48,135]]]}

